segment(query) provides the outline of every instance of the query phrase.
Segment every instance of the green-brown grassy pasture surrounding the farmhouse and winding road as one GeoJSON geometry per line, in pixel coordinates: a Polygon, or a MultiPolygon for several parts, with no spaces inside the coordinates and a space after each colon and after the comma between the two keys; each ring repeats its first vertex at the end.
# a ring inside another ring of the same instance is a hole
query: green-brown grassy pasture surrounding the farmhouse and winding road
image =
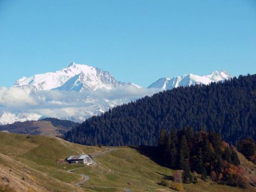
{"type": "MultiPolygon", "coordinates": [[[[177,185],[169,181],[173,170],[159,166],[136,148],[117,147],[99,155],[95,157],[96,166],[62,163],[69,155],[106,150],[105,147],[72,144],[55,137],[0,132],[0,191],[6,186],[9,191],[174,191],[161,185],[161,181],[177,185]],[[82,187],[74,185],[82,181],[80,175],[66,172],[78,167],[81,168],[75,172],[90,177],[82,187]]],[[[256,176],[255,165],[241,154],[239,158],[251,176],[256,176]]],[[[182,184],[179,187],[183,191],[256,191],[253,187],[242,190],[200,179],[196,185],[182,184]]]]}

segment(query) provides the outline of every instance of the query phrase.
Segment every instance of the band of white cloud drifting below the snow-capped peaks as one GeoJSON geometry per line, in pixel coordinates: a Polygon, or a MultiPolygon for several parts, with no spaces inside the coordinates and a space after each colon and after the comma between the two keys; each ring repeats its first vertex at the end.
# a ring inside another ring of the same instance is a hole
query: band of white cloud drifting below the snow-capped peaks
{"type": "Polygon", "coordinates": [[[45,117],[79,120],[108,110],[114,105],[135,101],[159,89],[137,89],[121,86],[112,90],[96,91],[40,91],[29,95],[25,91],[11,87],[0,87],[0,111],[13,113],[36,113],[45,117]]]}

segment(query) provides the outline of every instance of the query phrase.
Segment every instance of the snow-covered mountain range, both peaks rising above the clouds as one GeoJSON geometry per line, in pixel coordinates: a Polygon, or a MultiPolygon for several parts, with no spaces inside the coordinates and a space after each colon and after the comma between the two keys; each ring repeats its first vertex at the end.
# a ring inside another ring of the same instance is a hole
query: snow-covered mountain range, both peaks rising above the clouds
{"type": "MultiPolygon", "coordinates": [[[[231,79],[233,76],[226,71],[214,71],[210,75],[183,75],[174,78],[161,78],[152,83],[148,88],[162,90],[173,89],[178,86],[190,86],[196,84],[208,85],[211,82],[231,79]]],[[[14,87],[19,87],[27,93],[37,93],[42,90],[64,90],[64,91],[86,91],[97,89],[113,89],[114,87],[132,85],[141,88],[134,83],[123,83],[117,81],[108,71],[83,64],[71,63],[68,67],[56,72],[37,74],[18,79],[14,87]]]]}

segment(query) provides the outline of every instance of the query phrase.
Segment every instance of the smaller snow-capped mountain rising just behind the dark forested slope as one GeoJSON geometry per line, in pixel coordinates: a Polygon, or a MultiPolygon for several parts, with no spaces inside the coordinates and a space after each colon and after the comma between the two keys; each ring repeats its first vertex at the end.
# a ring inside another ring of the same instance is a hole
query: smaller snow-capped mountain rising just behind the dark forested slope
{"type": "Polygon", "coordinates": [[[169,90],[179,86],[191,85],[208,85],[211,82],[224,81],[233,78],[227,71],[213,71],[210,75],[194,75],[188,74],[183,76],[176,76],[174,78],[161,78],[152,83],[148,88],[158,88],[161,90],[169,90]]]}

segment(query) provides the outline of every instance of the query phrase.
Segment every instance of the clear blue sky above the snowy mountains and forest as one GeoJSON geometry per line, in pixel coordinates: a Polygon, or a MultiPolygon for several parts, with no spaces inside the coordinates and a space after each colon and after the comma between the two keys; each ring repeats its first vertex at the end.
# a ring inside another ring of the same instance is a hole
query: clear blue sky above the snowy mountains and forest
{"type": "Polygon", "coordinates": [[[71,62],[148,86],[256,73],[256,1],[0,0],[0,86],[71,62]]]}

